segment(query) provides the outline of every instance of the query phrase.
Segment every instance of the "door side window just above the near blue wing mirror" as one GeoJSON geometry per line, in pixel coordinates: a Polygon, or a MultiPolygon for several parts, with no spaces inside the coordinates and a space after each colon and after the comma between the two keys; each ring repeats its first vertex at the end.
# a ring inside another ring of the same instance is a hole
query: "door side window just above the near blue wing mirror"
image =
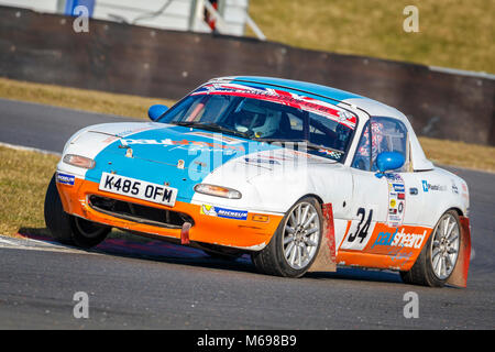
{"type": "Polygon", "coordinates": [[[398,152],[404,155],[406,163],[398,169],[405,172],[408,169],[409,143],[407,129],[399,120],[392,118],[371,119],[372,138],[372,170],[376,170],[376,157],[382,152],[398,152]]]}

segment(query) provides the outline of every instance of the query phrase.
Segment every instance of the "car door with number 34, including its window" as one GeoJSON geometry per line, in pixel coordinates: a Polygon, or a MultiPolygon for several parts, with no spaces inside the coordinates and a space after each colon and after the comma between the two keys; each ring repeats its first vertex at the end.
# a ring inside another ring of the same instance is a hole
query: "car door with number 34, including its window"
{"type": "Polygon", "coordinates": [[[372,117],[363,129],[351,166],[352,217],[340,250],[388,254],[391,249],[387,244],[394,240],[394,229],[405,223],[418,223],[417,213],[421,207],[417,177],[409,163],[408,132],[404,123],[393,118],[372,117]],[[399,169],[377,177],[375,161],[382,152],[402,153],[406,163],[399,169]],[[376,228],[377,224],[380,228],[376,228]],[[377,239],[374,232],[389,235],[385,241],[383,237],[377,239]]]}

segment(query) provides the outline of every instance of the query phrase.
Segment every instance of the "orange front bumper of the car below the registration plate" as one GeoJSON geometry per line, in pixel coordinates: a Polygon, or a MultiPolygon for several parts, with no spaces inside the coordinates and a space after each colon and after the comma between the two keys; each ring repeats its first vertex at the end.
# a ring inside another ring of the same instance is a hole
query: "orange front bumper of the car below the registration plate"
{"type": "Polygon", "coordinates": [[[167,229],[112,217],[92,209],[88,204],[90,195],[130,201],[143,206],[187,213],[195,224],[189,230],[189,240],[224,246],[256,250],[268,244],[275,233],[282,216],[270,215],[268,220],[253,220],[254,213],[249,212],[246,220],[234,220],[211,217],[200,213],[200,206],[176,201],[174,207],[151,204],[145,200],[110,194],[98,189],[98,183],[76,178],[74,186],[57,184],[64,210],[70,215],[90,221],[108,224],[114,228],[154,234],[180,240],[180,229],[167,229]]]}

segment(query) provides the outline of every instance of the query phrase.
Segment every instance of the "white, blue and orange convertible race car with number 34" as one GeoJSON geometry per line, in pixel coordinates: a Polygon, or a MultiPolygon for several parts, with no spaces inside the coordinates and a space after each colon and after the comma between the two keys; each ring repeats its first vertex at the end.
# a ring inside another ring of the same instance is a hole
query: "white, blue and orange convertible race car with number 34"
{"type": "Polygon", "coordinates": [[[271,275],[355,266],[465,287],[468,185],[427,160],[398,110],[241,76],[148,117],[68,140],[45,198],[54,239],[88,249],[118,228],[213,256],[250,254],[271,275]]]}

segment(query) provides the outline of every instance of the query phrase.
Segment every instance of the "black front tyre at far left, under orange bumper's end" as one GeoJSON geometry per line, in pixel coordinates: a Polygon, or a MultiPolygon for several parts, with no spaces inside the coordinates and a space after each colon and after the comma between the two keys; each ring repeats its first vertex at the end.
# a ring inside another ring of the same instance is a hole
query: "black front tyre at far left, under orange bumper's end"
{"type": "Polygon", "coordinates": [[[111,230],[109,227],[66,213],[62,206],[55,175],[46,189],[44,213],[45,224],[52,237],[64,244],[89,249],[102,242],[111,230]]]}

